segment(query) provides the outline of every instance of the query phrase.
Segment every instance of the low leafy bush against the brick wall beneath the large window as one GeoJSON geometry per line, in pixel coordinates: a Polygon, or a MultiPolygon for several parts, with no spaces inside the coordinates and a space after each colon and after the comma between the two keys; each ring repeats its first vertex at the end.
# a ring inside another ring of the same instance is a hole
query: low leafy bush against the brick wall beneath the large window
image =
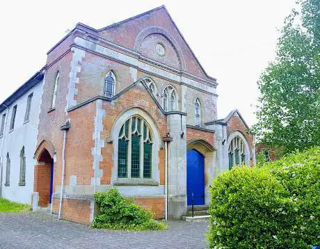
{"type": "Polygon", "coordinates": [[[154,220],[152,211],[123,198],[116,188],[95,193],[95,202],[100,213],[93,219],[92,227],[136,231],[166,229],[165,224],[154,220]]]}

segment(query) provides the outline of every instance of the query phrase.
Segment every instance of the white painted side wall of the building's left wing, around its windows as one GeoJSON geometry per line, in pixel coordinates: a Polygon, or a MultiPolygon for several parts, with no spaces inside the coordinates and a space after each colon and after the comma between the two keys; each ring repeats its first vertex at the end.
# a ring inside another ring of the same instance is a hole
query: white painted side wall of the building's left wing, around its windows
{"type": "MultiPolygon", "coordinates": [[[[0,156],[3,156],[2,168],[2,197],[16,202],[31,204],[31,194],[33,193],[33,167],[35,166],[35,146],[38,136],[39,110],[40,99],[42,96],[42,82],[36,84],[27,93],[19,97],[9,107],[7,113],[6,127],[3,132],[3,137],[0,138],[0,156]],[[24,114],[26,112],[26,102],[28,96],[33,93],[29,122],[24,123],[24,114]],[[15,128],[9,132],[11,114],[13,106],[17,104],[17,114],[15,116],[15,128]],[[4,139],[4,140],[3,140],[4,139]],[[2,147],[3,145],[3,147],[2,147]],[[24,146],[26,155],[26,185],[19,186],[20,173],[20,151],[24,146]],[[6,155],[9,152],[10,166],[10,186],[5,186],[6,183],[6,155]]],[[[0,119],[3,113],[0,113],[0,119]]],[[[1,124],[0,124],[1,125],[1,124]]]]}

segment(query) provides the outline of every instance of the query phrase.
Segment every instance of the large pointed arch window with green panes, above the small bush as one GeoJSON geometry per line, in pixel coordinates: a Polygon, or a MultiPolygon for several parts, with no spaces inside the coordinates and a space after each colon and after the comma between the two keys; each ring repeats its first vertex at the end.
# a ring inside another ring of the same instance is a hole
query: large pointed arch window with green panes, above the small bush
{"type": "Polygon", "coordinates": [[[151,178],[152,131],[138,116],[122,125],[118,137],[118,178],[151,178]]]}

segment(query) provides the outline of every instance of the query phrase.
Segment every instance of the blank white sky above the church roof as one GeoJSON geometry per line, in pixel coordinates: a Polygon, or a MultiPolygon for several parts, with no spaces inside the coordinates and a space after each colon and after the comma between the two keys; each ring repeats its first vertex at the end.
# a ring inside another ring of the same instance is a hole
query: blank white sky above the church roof
{"type": "Polygon", "coordinates": [[[3,1],[0,102],[45,65],[67,29],[96,29],[166,5],[206,72],[218,79],[218,117],[239,109],[255,122],[257,79],[274,58],[282,23],[295,0],[3,1]]]}

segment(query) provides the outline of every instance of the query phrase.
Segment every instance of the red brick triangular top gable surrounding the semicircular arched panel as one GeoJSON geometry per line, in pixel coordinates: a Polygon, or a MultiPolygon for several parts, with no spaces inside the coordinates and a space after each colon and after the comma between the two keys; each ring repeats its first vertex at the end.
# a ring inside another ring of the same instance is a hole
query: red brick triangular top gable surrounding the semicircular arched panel
{"type": "Polygon", "coordinates": [[[209,77],[200,65],[165,6],[154,8],[97,30],[100,37],[134,50],[137,50],[137,42],[141,39],[141,35],[148,35],[152,32],[164,35],[173,44],[180,57],[182,71],[216,80],[209,77]]]}

